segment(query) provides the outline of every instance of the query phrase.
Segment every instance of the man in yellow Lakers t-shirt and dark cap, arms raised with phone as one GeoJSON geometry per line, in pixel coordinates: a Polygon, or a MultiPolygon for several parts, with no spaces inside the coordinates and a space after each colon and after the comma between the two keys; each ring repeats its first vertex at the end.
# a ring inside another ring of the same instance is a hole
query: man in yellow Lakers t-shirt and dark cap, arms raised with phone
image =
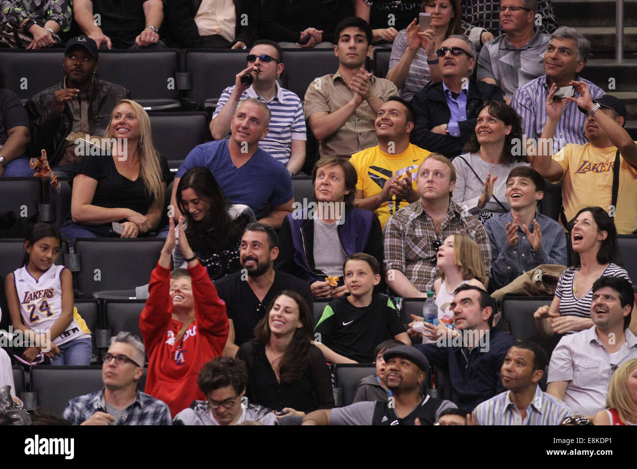
{"type": "Polygon", "coordinates": [[[615,218],[617,234],[633,234],[637,230],[637,144],[624,129],[626,106],[610,94],[591,99],[586,82],[571,85],[579,96],[565,100],[554,100],[556,87],[551,87],[541,138],[553,138],[569,100],[587,114],[584,130],[589,143],[568,144],[552,157],[550,145],[538,145],[532,167],[552,182],[562,181],[563,224],[580,209],[599,206],[615,218]]]}

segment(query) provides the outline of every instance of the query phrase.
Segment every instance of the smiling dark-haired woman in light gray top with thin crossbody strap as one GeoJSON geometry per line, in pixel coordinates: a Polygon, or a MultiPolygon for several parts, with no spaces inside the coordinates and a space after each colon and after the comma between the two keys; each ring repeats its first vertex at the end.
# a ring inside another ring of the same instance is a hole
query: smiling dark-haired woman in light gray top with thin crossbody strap
{"type": "Polygon", "coordinates": [[[454,159],[452,200],[486,221],[510,210],[506,177],[513,168],[531,164],[522,157],[522,119],[517,112],[497,101],[487,101],[478,111],[475,135],[464,145],[468,153],[454,159]]]}

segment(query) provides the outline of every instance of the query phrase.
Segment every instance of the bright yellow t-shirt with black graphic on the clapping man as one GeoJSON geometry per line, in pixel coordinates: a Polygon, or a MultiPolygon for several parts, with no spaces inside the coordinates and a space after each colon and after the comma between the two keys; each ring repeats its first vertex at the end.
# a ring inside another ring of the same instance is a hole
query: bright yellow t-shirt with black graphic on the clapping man
{"type": "MultiPolygon", "coordinates": [[[[413,144],[409,144],[407,149],[399,154],[385,153],[378,145],[354,153],[350,163],[354,165],[358,173],[356,189],[362,191],[363,198],[371,197],[383,190],[385,182],[390,177],[410,172],[415,190],[418,167],[430,154],[431,152],[413,144]]],[[[385,227],[389,217],[407,205],[409,205],[407,200],[392,195],[390,200],[383,202],[374,211],[380,220],[380,226],[385,227]]]]}

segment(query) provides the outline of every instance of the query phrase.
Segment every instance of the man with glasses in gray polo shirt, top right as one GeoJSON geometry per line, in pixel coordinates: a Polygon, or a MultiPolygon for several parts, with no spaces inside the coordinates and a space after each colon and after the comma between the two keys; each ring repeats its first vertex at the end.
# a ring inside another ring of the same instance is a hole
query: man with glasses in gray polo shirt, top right
{"type": "Polygon", "coordinates": [[[499,10],[504,34],[482,48],[478,80],[501,87],[509,103],[519,86],[543,75],[550,37],[533,28],[538,0],[502,0],[499,10]]]}

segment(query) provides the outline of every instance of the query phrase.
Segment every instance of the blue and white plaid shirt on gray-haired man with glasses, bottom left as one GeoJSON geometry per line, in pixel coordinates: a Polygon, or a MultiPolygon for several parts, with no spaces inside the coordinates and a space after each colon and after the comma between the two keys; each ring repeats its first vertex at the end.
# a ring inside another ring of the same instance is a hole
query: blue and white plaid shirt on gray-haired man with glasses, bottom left
{"type": "MultiPolygon", "coordinates": [[[[71,399],[62,418],[71,425],[80,425],[96,412],[104,411],[104,388],[71,399]]],[[[166,403],[137,390],[135,401],[124,410],[124,415],[113,425],[172,425],[173,419],[166,403]]]]}

